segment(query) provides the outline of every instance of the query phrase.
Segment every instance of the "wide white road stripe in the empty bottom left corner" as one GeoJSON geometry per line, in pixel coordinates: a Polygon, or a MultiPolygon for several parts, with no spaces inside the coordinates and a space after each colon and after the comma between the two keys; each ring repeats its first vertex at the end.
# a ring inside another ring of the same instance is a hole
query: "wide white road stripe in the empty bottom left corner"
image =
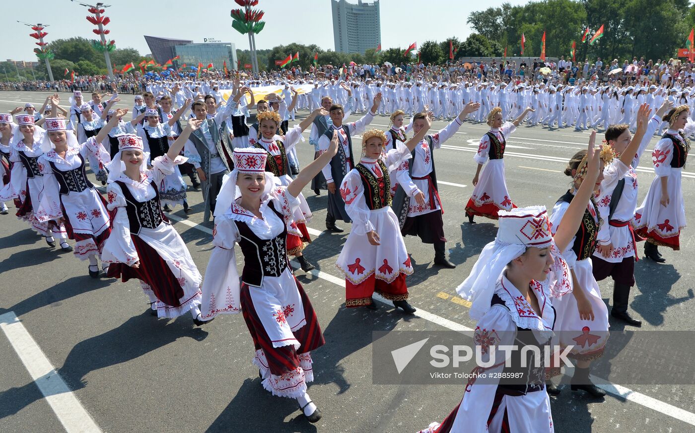
{"type": "Polygon", "coordinates": [[[38,389],[67,433],[101,433],[97,423],[58,375],[51,361],[28,333],[14,311],[0,316],[0,329],[22,360],[38,389]]]}

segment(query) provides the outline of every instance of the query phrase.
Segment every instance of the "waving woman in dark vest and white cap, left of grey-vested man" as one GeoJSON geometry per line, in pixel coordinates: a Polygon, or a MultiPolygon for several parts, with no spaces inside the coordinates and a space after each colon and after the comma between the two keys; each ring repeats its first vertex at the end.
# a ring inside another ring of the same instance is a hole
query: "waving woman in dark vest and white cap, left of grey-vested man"
{"type": "MultiPolygon", "coordinates": [[[[193,99],[186,99],[185,105],[188,106],[192,101],[193,99]]],[[[148,167],[151,167],[154,158],[164,156],[169,152],[169,140],[173,140],[172,126],[179,121],[183,110],[179,110],[165,123],[161,122],[159,111],[157,110],[147,109],[144,114],[145,124],[138,129],[138,136],[142,138],[142,145],[145,146],[145,153],[148,154],[148,159],[145,162],[148,167]]],[[[190,134],[188,135],[190,136],[190,134]]],[[[183,181],[177,165],[172,167],[172,172],[163,177],[157,186],[159,188],[159,201],[164,205],[165,212],[170,212],[173,208],[176,208],[177,204],[181,204],[183,205],[183,211],[188,213],[190,210],[188,202],[186,202],[186,189],[188,186],[183,181]]]]}

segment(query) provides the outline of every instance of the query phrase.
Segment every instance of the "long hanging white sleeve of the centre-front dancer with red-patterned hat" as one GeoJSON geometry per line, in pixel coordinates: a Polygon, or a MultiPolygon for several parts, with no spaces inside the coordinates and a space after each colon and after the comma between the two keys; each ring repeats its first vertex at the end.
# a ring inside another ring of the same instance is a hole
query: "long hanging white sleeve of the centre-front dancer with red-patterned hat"
{"type": "Polygon", "coordinates": [[[241,311],[240,279],[236,270],[234,244],[239,238],[236,223],[224,215],[215,217],[213,245],[210,261],[202,286],[200,316],[211,320],[218,314],[234,314],[241,311]]]}

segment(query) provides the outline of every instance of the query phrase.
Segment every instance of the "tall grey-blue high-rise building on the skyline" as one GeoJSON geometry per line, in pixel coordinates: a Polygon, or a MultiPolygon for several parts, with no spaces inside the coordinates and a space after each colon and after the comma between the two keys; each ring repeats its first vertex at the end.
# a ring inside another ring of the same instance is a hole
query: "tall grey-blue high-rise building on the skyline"
{"type": "Polygon", "coordinates": [[[364,51],[382,43],[379,0],[374,0],[374,3],[358,0],[357,4],[331,0],[331,8],[336,51],[364,54],[364,51]]]}

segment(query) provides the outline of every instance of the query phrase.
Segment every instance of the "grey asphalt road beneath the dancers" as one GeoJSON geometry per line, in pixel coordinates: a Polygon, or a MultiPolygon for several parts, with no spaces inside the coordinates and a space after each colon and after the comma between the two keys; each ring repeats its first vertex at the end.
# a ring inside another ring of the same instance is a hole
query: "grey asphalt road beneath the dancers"
{"type": "MultiPolygon", "coordinates": [[[[0,112],[24,102],[38,106],[45,95],[0,92],[0,112]]],[[[123,99],[127,103],[120,106],[131,108],[131,97],[123,99]]],[[[388,123],[388,117],[378,116],[373,126],[387,129],[388,123]]],[[[444,125],[438,121],[432,127],[444,125]]],[[[350,224],[341,224],[345,234],[316,236],[325,228],[326,196],[316,197],[309,188],[304,189],[314,213],[308,224],[314,229],[313,243],[305,254],[317,270],[311,275],[301,270],[296,274],[326,339],[326,345],[312,354],[316,379],[309,393],[324,414],[316,425],[304,420],[295,400],[263,390],[250,362],[254,351],[243,318],[220,316],[199,328],[193,326],[190,316],[157,320],[147,313],[146,297],[136,281],[122,284],[114,279],[91,279],[86,263],[72,253],[49,249],[12,212],[0,217],[0,322],[7,320],[10,311],[19,318],[103,432],[416,432],[443,419],[457,405],[466,381],[374,384],[372,332],[475,327],[455,287],[468,276],[482,247],[496,233],[496,222],[481,218],[473,226],[464,222],[463,208],[473,190],[473,152],[486,129],[485,124],[466,122],[436,149],[444,231],[450,259],[457,268],[433,268],[432,246],[406,238],[415,268],[407,282],[410,302],[418,309],[416,316],[404,316],[386,304],[379,311],[345,309],[344,288],[334,263],[350,224]]],[[[308,138],[308,132],[304,135],[308,138]]],[[[569,178],[562,174],[566,161],[585,148],[587,140],[588,133],[571,129],[518,128],[507,141],[505,155],[507,186],[514,202],[552,208],[569,186],[569,178]]],[[[359,140],[353,142],[359,154],[359,140]]],[[[656,138],[649,149],[655,142],[656,138]]],[[[308,139],[298,145],[298,154],[303,164],[311,161],[313,147],[308,139]]],[[[653,179],[649,156],[643,158],[643,164],[645,170],[638,176],[640,199],[653,179]]],[[[686,165],[682,188],[685,211],[693,215],[695,174],[689,167],[692,165],[686,165]]],[[[204,272],[211,251],[211,224],[201,224],[201,199],[199,190],[189,188],[188,202],[194,212],[185,215],[177,208],[172,222],[204,272]]],[[[682,233],[680,252],[662,249],[667,263],[637,263],[637,287],[630,307],[644,320],[638,332],[653,332],[653,338],[658,338],[655,331],[694,330],[693,233],[689,229],[682,233]]],[[[605,302],[611,304],[612,283],[602,281],[600,288],[605,302]]],[[[616,335],[631,330],[613,320],[611,326],[616,335]]],[[[29,373],[38,359],[20,359],[6,329],[4,326],[5,332],[0,332],[0,431],[65,431],[29,373]]],[[[461,336],[461,341],[470,338],[461,336]]],[[[682,343],[691,346],[692,337],[682,343]]],[[[670,356],[661,355],[663,368],[668,369],[670,356]]],[[[563,377],[562,394],[551,399],[557,432],[695,432],[692,379],[684,378],[682,384],[606,386],[614,392],[599,402],[570,391],[564,385],[568,380],[563,377]]],[[[72,412],[63,415],[70,418],[72,412]]]]}

